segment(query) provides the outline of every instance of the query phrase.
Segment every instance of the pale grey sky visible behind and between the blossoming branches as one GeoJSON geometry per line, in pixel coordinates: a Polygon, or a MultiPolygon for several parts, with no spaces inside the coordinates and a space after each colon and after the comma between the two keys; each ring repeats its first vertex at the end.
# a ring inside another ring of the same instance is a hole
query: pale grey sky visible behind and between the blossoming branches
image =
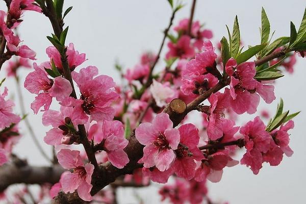
{"type": "MultiPolygon", "coordinates": [[[[179,11],[175,24],[179,19],[189,16],[191,1],[183,1],[186,7],[179,11]]],[[[4,9],[4,3],[0,4],[4,9]]],[[[77,1],[66,0],[65,8],[73,6],[72,11],[65,19],[69,25],[66,42],[73,42],[75,48],[81,53],[86,53],[89,59],[83,65],[95,65],[100,73],[111,75],[117,82],[118,74],[113,65],[115,59],[119,59],[125,67],[132,67],[139,60],[144,50],[157,52],[162,40],[162,30],[168,25],[171,10],[166,0],[158,1],[77,1]]],[[[237,14],[240,23],[240,31],[243,42],[258,44],[260,42],[260,17],[261,7],[264,7],[270,19],[271,30],[276,30],[274,39],[281,36],[289,36],[290,20],[298,27],[305,2],[302,0],[291,1],[197,1],[194,19],[206,23],[206,28],[214,32],[213,42],[218,42],[222,36],[227,36],[225,24],[233,26],[234,17],[237,14]]],[[[52,27],[48,19],[34,12],[24,14],[24,22],[21,23],[19,34],[24,44],[29,45],[37,52],[37,62],[47,60],[45,48],[50,45],[45,36],[50,35],[52,27]]],[[[165,51],[166,49],[164,49],[165,51]]],[[[305,91],[306,60],[299,58],[293,75],[286,74],[277,80],[277,99],[270,105],[261,104],[273,112],[277,101],[282,97],[285,101],[285,109],[292,112],[302,111],[295,119],[295,129],[291,131],[290,146],[294,150],[292,158],[284,157],[281,165],[270,167],[264,165],[258,175],[253,175],[250,169],[237,165],[225,168],[221,182],[209,183],[209,195],[214,201],[229,201],[230,203],[306,203],[306,136],[305,128],[305,91]]],[[[22,81],[25,73],[21,72],[22,81]]],[[[0,79],[5,77],[4,70],[0,73],[0,79]]],[[[17,98],[15,94],[14,80],[8,79],[5,86],[10,89],[10,96],[17,98]]],[[[26,90],[25,104],[30,107],[34,95],[26,90]]],[[[18,101],[16,100],[16,104],[18,101]]],[[[18,112],[18,106],[16,111],[18,112]]],[[[41,123],[41,114],[33,115],[30,108],[29,118],[40,139],[41,145],[48,153],[50,146],[43,143],[43,136],[47,128],[41,123]]],[[[243,121],[251,119],[254,115],[242,116],[243,121]]],[[[47,162],[40,156],[32,143],[27,129],[23,125],[24,137],[15,148],[22,158],[28,158],[31,164],[42,165],[47,162]],[[17,150],[18,149],[18,150],[17,150]]],[[[154,187],[139,190],[145,203],[159,203],[159,195],[154,187]]],[[[136,200],[131,190],[120,190],[119,203],[135,203],[136,200]]]]}

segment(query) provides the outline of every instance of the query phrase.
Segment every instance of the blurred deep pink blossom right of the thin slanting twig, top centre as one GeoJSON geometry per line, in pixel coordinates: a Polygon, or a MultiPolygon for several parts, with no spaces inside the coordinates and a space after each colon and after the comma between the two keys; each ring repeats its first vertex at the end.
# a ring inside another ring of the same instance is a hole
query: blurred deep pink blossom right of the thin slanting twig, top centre
{"type": "Polygon", "coordinates": [[[190,37],[182,36],[176,44],[168,42],[169,52],[166,54],[166,59],[178,58],[192,58],[194,56],[194,49],[190,46],[190,37]]]}

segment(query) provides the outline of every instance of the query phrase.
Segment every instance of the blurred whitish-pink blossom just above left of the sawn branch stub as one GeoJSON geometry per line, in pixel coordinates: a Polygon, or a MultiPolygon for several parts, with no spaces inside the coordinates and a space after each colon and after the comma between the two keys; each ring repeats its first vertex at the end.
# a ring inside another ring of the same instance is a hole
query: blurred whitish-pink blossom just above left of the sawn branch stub
{"type": "Polygon", "coordinates": [[[166,106],[175,96],[175,90],[171,89],[169,85],[167,85],[167,83],[162,84],[153,80],[153,83],[150,86],[150,92],[158,107],[162,108],[166,106]]]}

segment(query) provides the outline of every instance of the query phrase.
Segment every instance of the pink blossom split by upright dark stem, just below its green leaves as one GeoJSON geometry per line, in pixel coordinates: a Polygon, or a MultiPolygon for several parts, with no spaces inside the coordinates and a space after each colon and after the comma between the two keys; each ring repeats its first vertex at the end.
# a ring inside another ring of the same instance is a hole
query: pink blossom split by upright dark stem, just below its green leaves
{"type": "MultiPolygon", "coordinates": [[[[56,47],[54,46],[47,47],[46,54],[48,55],[50,60],[53,59],[55,66],[57,68],[60,68],[60,69],[63,68],[61,55],[56,49],[56,47]]],[[[68,65],[71,71],[73,71],[75,67],[81,65],[83,62],[86,61],[86,54],[85,53],[79,54],[79,51],[74,50],[73,43],[69,43],[69,46],[67,46],[66,54],[67,54],[68,65]]]]}

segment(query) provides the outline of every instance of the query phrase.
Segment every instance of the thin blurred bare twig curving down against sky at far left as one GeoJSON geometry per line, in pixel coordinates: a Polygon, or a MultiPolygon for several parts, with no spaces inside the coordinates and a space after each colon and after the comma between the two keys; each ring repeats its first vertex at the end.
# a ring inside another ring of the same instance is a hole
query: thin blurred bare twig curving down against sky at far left
{"type": "MultiPolygon", "coordinates": [[[[15,81],[16,81],[16,85],[17,85],[17,94],[18,94],[18,98],[19,98],[19,106],[20,106],[20,110],[21,110],[21,114],[22,116],[25,116],[25,108],[24,108],[24,100],[23,100],[23,96],[22,96],[22,91],[20,88],[20,83],[19,83],[19,79],[18,77],[15,77],[15,81]]],[[[37,140],[37,137],[32,129],[32,126],[28,120],[28,117],[24,117],[24,124],[25,126],[27,126],[28,131],[30,133],[31,138],[34,141],[34,144],[36,145],[36,147],[38,148],[38,150],[40,151],[41,155],[48,160],[49,162],[53,163],[52,160],[49,159],[49,157],[47,156],[47,154],[44,152],[43,148],[40,146],[39,141],[37,140]]]]}

